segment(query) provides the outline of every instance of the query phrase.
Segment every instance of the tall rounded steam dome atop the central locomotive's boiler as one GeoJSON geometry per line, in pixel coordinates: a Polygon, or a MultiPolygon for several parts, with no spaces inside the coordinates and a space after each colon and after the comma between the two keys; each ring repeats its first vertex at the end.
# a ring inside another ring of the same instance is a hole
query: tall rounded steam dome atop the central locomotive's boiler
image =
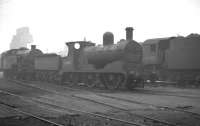
{"type": "Polygon", "coordinates": [[[103,46],[114,44],[114,35],[112,32],[106,32],[103,34],[103,46]]]}

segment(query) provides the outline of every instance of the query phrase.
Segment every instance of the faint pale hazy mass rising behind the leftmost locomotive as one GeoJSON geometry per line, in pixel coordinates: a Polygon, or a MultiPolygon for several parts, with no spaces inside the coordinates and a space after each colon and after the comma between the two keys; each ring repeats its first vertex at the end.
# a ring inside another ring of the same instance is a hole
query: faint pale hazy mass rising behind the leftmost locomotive
{"type": "Polygon", "coordinates": [[[29,32],[28,27],[18,28],[16,35],[13,36],[10,43],[10,49],[17,49],[20,47],[27,47],[27,44],[33,42],[33,37],[29,32]]]}

